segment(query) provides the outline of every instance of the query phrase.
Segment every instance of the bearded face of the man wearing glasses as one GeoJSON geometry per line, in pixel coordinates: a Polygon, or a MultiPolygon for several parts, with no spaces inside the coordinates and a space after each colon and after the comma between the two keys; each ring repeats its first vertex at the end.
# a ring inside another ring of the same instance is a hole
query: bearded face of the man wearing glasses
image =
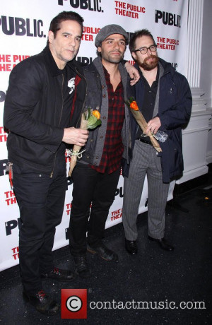
{"type": "MultiPolygon", "coordinates": [[[[135,49],[141,49],[141,47],[151,47],[154,45],[153,39],[150,36],[141,36],[138,37],[135,41],[135,49]]],[[[140,51],[132,52],[132,57],[136,62],[138,62],[139,66],[147,71],[151,71],[158,66],[158,54],[157,52],[151,52],[150,49],[146,52],[146,54],[141,54],[140,51]]]]}

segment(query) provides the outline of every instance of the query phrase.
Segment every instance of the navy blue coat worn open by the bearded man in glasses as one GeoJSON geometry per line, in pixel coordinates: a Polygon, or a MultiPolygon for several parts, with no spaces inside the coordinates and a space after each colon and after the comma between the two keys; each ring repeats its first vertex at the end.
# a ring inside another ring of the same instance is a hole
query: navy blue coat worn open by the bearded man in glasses
{"type": "MultiPolygon", "coordinates": [[[[192,94],[187,79],[175,71],[170,63],[160,59],[164,73],[160,78],[159,107],[160,130],[168,135],[167,141],[160,142],[163,182],[180,177],[184,169],[182,157],[182,128],[189,122],[192,112],[192,94]]],[[[136,68],[138,65],[135,64],[136,68]]],[[[144,85],[142,78],[134,85],[136,102],[143,105],[144,85]]],[[[135,141],[138,124],[131,116],[132,140],[135,141]]]]}

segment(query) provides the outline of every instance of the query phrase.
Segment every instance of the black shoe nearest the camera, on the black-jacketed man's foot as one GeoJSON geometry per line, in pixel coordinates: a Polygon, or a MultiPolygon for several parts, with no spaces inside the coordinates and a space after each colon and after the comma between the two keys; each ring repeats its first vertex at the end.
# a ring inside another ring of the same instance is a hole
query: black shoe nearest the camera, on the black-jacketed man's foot
{"type": "Polygon", "coordinates": [[[38,291],[35,295],[28,295],[23,291],[23,298],[26,302],[37,309],[37,312],[42,312],[42,314],[57,314],[59,312],[59,305],[55,300],[49,297],[43,290],[38,291]]]}

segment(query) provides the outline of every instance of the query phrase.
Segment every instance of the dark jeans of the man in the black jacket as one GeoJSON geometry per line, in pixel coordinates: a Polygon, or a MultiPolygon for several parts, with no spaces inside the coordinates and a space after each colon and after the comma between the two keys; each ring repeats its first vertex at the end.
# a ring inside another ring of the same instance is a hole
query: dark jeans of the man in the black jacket
{"type": "Polygon", "coordinates": [[[20,208],[19,264],[23,288],[42,288],[40,273],[54,268],[55,227],[61,223],[67,189],[64,158],[56,160],[54,175],[37,174],[13,165],[13,187],[20,208]]]}

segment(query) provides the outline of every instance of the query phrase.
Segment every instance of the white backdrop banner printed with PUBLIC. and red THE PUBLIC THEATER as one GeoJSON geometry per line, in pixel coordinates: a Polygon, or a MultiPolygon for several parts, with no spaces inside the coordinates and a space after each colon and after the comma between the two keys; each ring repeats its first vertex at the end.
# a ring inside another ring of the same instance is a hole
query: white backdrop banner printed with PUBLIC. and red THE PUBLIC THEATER
{"type": "MultiPolygon", "coordinates": [[[[187,48],[188,0],[1,0],[0,12],[0,271],[18,264],[20,215],[16,197],[6,175],[6,138],[3,112],[8,77],[18,62],[42,51],[47,42],[49,23],[61,11],[76,11],[84,18],[83,39],[76,59],[89,64],[96,57],[95,36],[108,24],[121,25],[129,34],[147,28],[158,45],[158,55],[184,73],[187,48]]],[[[129,49],[125,59],[134,63],[129,49]]],[[[69,157],[67,160],[67,170],[69,157]]],[[[67,179],[64,215],[57,227],[54,249],[68,244],[66,237],[71,213],[72,183],[67,179]]],[[[175,183],[170,184],[172,199],[175,183]]],[[[27,195],[27,193],[26,193],[27,195]]],[[[119,178],[114,203],[106,227],[122,221],[123,177],[119,178]]],[[[148,209],[147,182],[139,213],[148,209]]]]}

